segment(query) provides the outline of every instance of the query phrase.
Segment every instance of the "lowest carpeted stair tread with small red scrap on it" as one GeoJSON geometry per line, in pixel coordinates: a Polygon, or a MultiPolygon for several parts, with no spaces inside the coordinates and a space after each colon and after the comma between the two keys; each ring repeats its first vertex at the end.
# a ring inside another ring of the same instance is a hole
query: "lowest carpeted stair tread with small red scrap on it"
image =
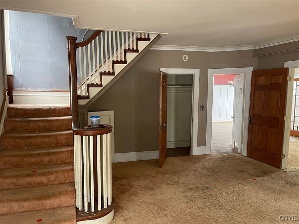
{"type": "Polygon", "coordinates": [[[0,224],[75,224],[74,206],[0,216],[0,224]],[[37,222],[40,221],[40,222],[37,222]]]}

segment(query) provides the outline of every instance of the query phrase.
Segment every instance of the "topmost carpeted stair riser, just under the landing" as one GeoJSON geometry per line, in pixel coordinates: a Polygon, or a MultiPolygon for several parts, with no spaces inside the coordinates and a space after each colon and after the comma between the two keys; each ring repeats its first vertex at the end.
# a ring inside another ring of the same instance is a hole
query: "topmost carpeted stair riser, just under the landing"
{"type": "Polygon", "coordinates": [[[46,108],[46,109],[31,109],[31,108],[7,108],[8,117],[55,117],[71,115],[70,108],[46,108]]]}

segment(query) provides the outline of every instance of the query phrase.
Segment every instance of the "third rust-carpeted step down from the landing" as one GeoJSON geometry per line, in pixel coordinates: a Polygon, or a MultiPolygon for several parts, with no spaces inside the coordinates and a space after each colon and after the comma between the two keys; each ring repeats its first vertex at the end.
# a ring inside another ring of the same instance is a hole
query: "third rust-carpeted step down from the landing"
{"type": "Polygon", "coordinates": [[[73,144],[73,131],[10,132],[1,135],[1,149],[34,148],[73,144]]]}

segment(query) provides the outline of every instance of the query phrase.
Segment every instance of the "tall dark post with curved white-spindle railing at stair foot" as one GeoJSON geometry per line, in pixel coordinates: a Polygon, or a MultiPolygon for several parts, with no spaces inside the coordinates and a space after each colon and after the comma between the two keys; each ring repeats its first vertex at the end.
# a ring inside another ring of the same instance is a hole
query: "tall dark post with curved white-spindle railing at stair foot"
{"type": "MultiPolygon", "coordinates": [[[[108,223],[113,219],[115,205],[111,183],[112,126],[100,124],[96,128],[90,126],[79,128],[76,37],[67,37],[67,40],[74,133],[76,222],[102,219],[103,222],[108,223]]],[[[85,43],[88,41],[86,40],[85,43]]]]}

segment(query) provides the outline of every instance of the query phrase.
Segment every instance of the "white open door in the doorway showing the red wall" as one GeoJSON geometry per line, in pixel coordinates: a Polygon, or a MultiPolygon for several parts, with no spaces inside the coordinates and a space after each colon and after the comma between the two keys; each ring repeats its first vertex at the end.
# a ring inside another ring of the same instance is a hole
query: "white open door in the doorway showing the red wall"
{"type": "Polygon", "coordinates": [[[242,153],[243,138],[243,101],[244,101],[244,74],[234,77],[234,115],[233,115],[233,147],[238,147],[238,152],[242,153]]]}

